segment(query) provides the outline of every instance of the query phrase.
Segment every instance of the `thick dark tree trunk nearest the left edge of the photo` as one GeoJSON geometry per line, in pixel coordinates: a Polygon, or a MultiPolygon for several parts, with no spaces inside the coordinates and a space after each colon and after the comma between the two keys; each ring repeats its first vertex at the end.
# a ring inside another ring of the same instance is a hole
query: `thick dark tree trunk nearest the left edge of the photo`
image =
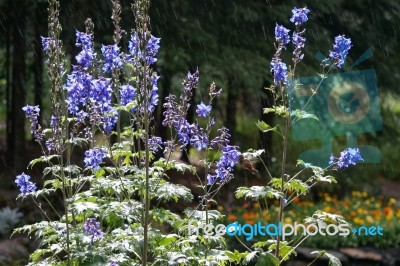
{"type": "MultiPolygon", "coordinates": [[[[24,167],[25,152],[25,117],[21,108],[25,104],[25,19],[26,3],[20,0],[18,4],[13,3],[13,60],[12,60],[12,80],[11,80],[11,110],[7,116],[11,126],[9,131],[8,150],[12,154],[12,167],[18,173],[24,167]]],[[[9,130],[9,129],[7,129],[9,130]]]]}

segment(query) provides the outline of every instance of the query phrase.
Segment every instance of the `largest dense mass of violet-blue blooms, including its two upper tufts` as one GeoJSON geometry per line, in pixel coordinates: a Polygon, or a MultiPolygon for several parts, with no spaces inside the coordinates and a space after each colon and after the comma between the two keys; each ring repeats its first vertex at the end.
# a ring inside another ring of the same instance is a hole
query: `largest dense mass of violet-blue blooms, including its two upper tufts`
{"type": "MultiPolygon", "coordinates": [[[[78,122],[84,123],[89,118],[91,123],[101,125],[102,129],[109,133],[116,124],[118,115],[111,104],[111,79],[105,77],[95,79],[88,70],[96,56],[91,34],[78,31],[76,46],[81,47],[82,51],[77,56],[78,65],[73,66],[65,85],[68,111],[78,122]]],[[[116,45],[103,46],[102,52],[105,57],[104,72],[122,66],[118,55],[119,48],[116,45]]]]}

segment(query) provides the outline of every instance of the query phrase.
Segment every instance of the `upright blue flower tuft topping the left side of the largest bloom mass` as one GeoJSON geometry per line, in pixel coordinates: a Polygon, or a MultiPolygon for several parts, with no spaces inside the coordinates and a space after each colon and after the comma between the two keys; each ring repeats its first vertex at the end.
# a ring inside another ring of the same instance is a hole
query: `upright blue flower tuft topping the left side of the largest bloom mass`
{"type": "Polygon", "coordinates": [[[76,46],[82,48],[79,54],[75,57],[78,65],[81,65],[84,68],[91,67],[93,61],[96,59],[96,53],[93,49],[92,34],[76,31],[76,46]]]}

